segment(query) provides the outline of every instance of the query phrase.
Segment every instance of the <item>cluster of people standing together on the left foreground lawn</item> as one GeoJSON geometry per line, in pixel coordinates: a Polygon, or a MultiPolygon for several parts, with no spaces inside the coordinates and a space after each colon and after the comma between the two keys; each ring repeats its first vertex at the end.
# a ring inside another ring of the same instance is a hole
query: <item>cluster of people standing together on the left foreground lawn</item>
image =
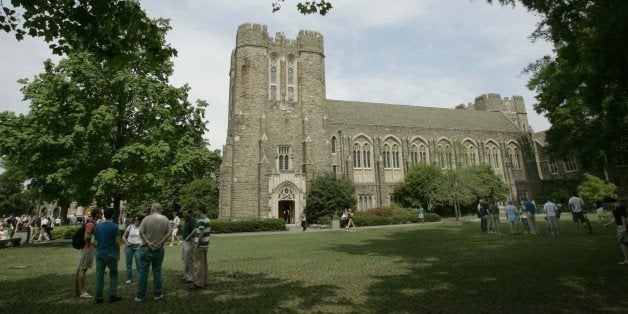
{"type": "MultiPolygon", "coordinates": [[[[164,245],[168,239],[174,244],[176,227],[162,214],[163,208],[159,203],[151,205],[148,216],[136,215],[133,222],[125,228],[122,237],[120,229],[111,220],[113,209],[106,208],[102,212],[98,208],[91,211],[91,220],[85,223],[85,245],[81,249],[79,265],[74,276],[74,293],[83,299],[94,299],[96,303],[104,302],[104,274],[109,269],[109,302],[117,302],[118,296],[118,261],[120,260],[121,246],[124,245],[126,284],[131,284],[133,274],[137,273],[137,290],[135,301],[143,302],[146,297],[148,273],[153,273],[153,300],[163,298],[162,264],[164,260],[164,245]],[[104,219],[103,219],[104,218],[104,219]],[[96,285],[94,296],[87,292],[85,287],[85,273],[96,260],[96,285]],[[135,261],[136,272],[133,271],[135,261]]],[[[207,286],[208,264],[207,251],[209,248],[210,221],[205,210],[197,209],[198,219],[195,219],[189,210],[184,212],[185,225],[182,239],[183,281],[193,283],[193,288],[202,289],[207,286]]],[[[178,216],[175,216],[178,219],[178,216]]],[[[175,220],[175,219],[173,219],[175,220]]]]}

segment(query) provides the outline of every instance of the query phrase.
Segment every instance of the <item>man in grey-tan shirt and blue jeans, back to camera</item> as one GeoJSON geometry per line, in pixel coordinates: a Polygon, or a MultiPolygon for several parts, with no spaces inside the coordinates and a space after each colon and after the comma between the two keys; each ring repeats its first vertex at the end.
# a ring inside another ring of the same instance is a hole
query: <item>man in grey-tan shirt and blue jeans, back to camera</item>
{"type": "Polygon", "coordinates": [[[140,224],[140,237],[144,242],[140,247],[138,265],[139,281],[137,282],[137,294],[135,302],[144,301],[146,285],[148,282],[148,269],[153,268],[153,300],[162,299],[161,264],[164,262],[164,242],[172,233],[170,221],[161,214],[162,207],[159,203],[153,203],[151,214],[146,216],[140,224]]]}

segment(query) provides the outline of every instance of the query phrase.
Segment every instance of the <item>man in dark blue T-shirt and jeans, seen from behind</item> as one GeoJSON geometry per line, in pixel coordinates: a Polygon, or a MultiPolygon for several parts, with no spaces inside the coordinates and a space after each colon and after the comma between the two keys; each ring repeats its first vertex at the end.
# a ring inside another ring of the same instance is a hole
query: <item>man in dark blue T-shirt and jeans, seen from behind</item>
{"type": "Polygon", "coordinates": [[[118,296],[118,261],[120,260],[120,229],[111,221],[113,208],[105,209],[105,221],[94,230],[96,239],[96,303],[103,302],[105,267],[109,268],[109,302],[117,302],[118,296]]]}

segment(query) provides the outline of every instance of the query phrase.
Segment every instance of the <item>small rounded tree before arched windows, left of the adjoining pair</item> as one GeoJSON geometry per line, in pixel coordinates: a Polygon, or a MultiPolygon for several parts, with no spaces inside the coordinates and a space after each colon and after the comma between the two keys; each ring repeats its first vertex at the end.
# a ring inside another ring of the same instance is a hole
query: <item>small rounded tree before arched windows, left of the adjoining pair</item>
{"type": "Polygon", "coordinates": [[[395,186],[395,195],[405,207],[425,205],[428,210],[434,205],[439,186],[446,180],[441,168],[435,165],[418,164],[412,167],[403,181],[395,186]]]}

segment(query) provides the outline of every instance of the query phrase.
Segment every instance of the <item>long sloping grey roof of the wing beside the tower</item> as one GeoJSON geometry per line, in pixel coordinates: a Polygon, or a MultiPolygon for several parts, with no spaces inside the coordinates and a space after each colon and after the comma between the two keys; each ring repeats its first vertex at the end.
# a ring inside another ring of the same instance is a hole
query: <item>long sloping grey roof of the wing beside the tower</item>
{"type": "Polygon", "coordinates": [[[327,99],[331,123],[521,132],[503,113],[327,99]]]}

